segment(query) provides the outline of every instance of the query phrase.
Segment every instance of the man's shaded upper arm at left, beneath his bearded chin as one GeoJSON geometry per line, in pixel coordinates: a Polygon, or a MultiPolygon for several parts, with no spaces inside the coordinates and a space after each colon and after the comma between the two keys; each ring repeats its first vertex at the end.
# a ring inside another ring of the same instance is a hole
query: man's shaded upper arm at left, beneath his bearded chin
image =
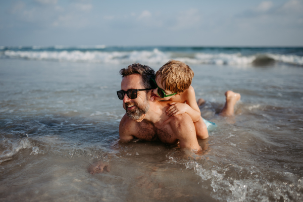
{"type": "Polygon", "coordinates": [[[128,118],[127,114],[123,116],[119,125],[120,141],[129,142],[130,140],[134,139],[134,136],[132,134],[136,126],[135,123],[136,122],[128,118]]]}

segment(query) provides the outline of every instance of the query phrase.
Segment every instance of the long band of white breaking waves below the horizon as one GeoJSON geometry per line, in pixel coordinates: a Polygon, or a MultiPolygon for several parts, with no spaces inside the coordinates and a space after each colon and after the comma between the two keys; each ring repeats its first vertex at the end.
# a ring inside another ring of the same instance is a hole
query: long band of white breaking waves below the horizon
{"type": "MultiPolygon", "coordinates": [[[[100,46],[103,48],[105,46],[100,46]]],[[[291,65],[303,65],[303,57],[296,55],[282,54],[255,54],[243,56],[241,53],[174,53],[162,52],[158,48],[152,51],[17,51],[7,49],[1,53],[2,58],[15,58],[26,60],[50,60],[67,62],[89,62],[104,64],[165,64],[168,60],[174,59],[185,62],[186,64],[215,64],[215,65],[270,65],[274,62],[286,63],[291,65]]]]}

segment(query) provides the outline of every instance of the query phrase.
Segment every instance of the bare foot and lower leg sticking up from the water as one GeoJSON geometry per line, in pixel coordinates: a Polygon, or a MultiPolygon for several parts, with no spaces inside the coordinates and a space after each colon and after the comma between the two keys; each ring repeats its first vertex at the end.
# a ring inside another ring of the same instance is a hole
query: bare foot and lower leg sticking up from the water
{"type": "Polygon", "coordinates": [[[223,109],[220,112],[220,116],[232,117],[234,116],[234,106],[238,100],[240,100],[241,95],[239,93],[228,90],[225,92],[226,102],[223,109]]]}

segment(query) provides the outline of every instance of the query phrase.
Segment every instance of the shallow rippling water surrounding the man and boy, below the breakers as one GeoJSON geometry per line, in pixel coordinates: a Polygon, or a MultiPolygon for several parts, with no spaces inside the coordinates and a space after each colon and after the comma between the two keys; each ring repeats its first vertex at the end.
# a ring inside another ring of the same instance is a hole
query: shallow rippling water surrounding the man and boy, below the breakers
{"type": "Polygon", "coordinates": [[[218,125],[193,155],[118,142],[126,66],[1,59],[1,201],[303,200],[301,67],[191,65],[201,114],[218,125]],[[216,114],[226,90],[241,93],[234,120],[216,114]],[[110,172],[90,175],[99,160],[110,172]]]}

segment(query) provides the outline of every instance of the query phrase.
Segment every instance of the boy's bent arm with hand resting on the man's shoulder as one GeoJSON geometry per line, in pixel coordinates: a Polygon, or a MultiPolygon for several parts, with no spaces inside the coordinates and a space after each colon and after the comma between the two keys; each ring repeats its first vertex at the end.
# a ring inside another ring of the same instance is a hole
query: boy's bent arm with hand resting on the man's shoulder
{"type": "Polygon", "coordinates": [[[201,117],[200,109],[195,100],[194,89],[192,86],[182,94],[185,97],[185,103],[170,103],[171,107],[169,107],[166,113],[169,116],[176,116],[178,114],[187,113],[193,122],[197,122],[201,117]]]}

